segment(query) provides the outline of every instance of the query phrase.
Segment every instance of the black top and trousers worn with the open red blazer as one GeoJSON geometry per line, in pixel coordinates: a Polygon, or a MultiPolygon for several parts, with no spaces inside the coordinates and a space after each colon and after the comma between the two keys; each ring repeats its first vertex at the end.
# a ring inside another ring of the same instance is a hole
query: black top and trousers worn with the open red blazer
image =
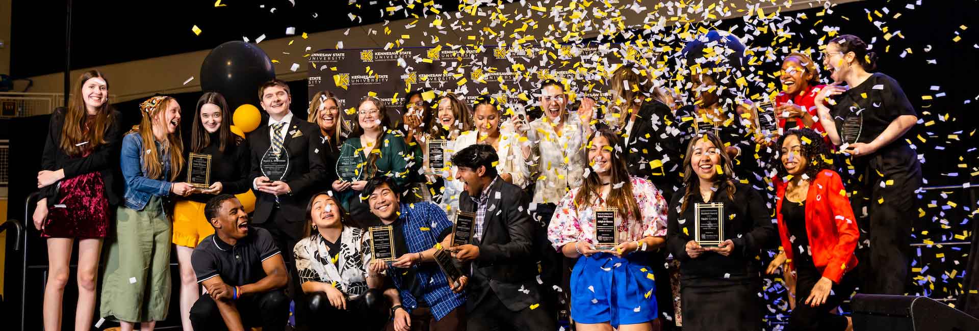
{"type": "Polygon", "coordinates": [[[822,278],[822,272],[813,264],[813,253],[809,247],[809,233],[806,231],[806,201],[794,202],[786,199],[782,202],[782,220],[789,231],[794,252],[792,259],[796,274],[796,306],[789,316],[789,326],[786,330],[846,330],[847,317],[835,314],[835,310],[844,300],[850,298],[855,287],[853,272],[843,275],[840,283],[833,284],[832,292],[826,302],[817,307],[806,305],[816,282],[822,278]]]}

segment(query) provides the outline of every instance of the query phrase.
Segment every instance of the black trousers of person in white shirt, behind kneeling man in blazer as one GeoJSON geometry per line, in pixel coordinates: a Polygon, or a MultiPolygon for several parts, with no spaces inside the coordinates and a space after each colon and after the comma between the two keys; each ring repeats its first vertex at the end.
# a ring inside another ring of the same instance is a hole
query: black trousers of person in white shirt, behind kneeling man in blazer
{"type": "Polygon", "coordinates": [[[547,227],[554,216],[555,205],[553,203],[538,203],[532,217],[534,218],[534,247],[540,257],[540,297],[546,304],[547,314],[551,319],[557,320],[558,311],[568,309],[568,279],[571,277],[571,267],[575,265],[575,260],[567,259],[563,254],[554,250],[550,240],[547,239],[547,227]],[[569,264],[565,260],[571,260],[569,264]],[[561,291],[554,289],[554,286],[561,288],[561,291]]]}

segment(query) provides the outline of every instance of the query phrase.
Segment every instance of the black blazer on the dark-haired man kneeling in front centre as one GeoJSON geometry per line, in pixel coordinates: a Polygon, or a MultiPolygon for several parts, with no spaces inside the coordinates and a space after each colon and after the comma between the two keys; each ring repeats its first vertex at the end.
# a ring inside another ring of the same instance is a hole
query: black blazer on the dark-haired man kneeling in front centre
{"type": "MultiPolygon", "coordinates": [[[[480,257],[472,262],[469,299],[479,303],[494,292],[508,309],[523,310],[540,298],[535,279],[538,257],[532,253],[535,227],[527,210],[530,199],[519,186],[499,177],[487,194],[483,239],[473,239],[473,245],[480,247],[480,257]],[[521,288],[530,293],[520,295],[521,288]]],[[[459,195],[459,210],[476,212],[476,202],[467,191],[459,195]]]]}

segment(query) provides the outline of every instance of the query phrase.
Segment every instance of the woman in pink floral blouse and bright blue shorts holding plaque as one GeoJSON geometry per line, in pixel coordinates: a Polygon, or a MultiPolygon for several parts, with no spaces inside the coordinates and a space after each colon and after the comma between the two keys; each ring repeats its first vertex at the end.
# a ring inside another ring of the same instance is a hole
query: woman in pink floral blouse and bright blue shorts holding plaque
{"type": "Polygon", "coordinates": [[[647,254],[665,242],[667,201],[648,180],[629,176],[619,137],[591,135],[591,170],[561,199],[547,228],[551,245],[578,259],[571,274],[571,316],[578,330],[649,330],[657,318],[647,254]]]}

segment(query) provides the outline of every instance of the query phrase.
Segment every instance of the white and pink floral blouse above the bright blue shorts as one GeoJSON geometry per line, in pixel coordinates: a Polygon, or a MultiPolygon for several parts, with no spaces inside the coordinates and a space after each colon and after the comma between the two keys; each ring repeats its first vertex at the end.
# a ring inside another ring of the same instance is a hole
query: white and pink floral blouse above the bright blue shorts
{"type": "MultiPolygon", "coordinates": [[[[623,217],[616,220],[619,242],[638,240],[646,236],[666,235],[667,200],[663,198],[663,194],[643,178],[631,177],[631,184],[632,196],[635,197],[635,203],[639,207],[641,222],[636,222],[636,215],[620,214],[623,217]],[[622,224],[622,220],[627,222],[622,224]]],[[[596,197],[590,206],[580,210],[575,204],[575,196],[579,189],[580,187],[572,188],[568,194],[565,194],[557,205],[557,210],[554,211],[550,226],[547,227],[547,239],[555,249],[560,250],[561,246],[573,241],[595,242],[595,209],[605,207],[604,201],[607,196],[596,197]]]]}

